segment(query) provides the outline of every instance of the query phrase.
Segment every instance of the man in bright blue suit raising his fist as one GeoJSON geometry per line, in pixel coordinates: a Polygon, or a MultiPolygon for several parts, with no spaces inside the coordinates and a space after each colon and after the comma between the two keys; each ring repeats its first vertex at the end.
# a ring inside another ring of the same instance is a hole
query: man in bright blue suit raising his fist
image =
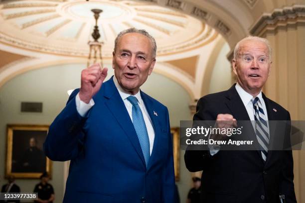
{"type": "Polygon", "coordinates": [[[71,160],[65,203],[173,203],[168,110],[140,90],[155,64],[156,44],[130,28],[115,40],[115,76],[82,71],[81,88],[50,126],[44,143],[55,161],[71,160]]]}

